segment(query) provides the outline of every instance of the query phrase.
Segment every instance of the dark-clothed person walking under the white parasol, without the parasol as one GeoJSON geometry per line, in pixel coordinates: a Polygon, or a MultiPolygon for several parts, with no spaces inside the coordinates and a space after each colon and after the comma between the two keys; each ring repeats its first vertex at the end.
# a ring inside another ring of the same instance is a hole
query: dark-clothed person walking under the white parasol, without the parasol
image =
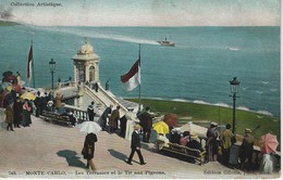
{"type": "Polygon", "coordinates": [[[87,159],[86,168],[88,169],[90,166],[91,170],[96,170],[95,164],[93,162],[95,156],[95,142],[97,142],[97,136],[93,132],[87,133],[82,152],[84,158],[87,159]]]}

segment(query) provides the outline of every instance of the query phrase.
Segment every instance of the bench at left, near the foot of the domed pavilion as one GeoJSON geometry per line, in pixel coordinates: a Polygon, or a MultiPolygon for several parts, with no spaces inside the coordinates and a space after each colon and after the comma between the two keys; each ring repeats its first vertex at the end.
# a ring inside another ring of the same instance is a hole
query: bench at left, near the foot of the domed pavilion
{"type": "Polygon", "coordinates": [[[71,121],[69,120],[67,116],[62,116],[62,115],[56,114],[53,112],[47,112],[47,111],[42,111],[42,116],[45,117],[45,119],[47,121],[71,127],[71,121]]]}

